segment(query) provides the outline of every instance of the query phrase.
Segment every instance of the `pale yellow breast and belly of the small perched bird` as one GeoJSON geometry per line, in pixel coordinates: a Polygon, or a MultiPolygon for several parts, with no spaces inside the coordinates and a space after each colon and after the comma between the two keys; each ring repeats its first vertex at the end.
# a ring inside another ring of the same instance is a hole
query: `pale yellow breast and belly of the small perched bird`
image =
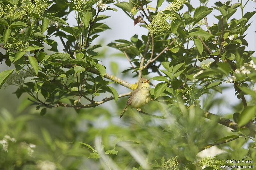
{"type": "Polygon", "coordinates": [[[140,108],[146,105],[150,100],[151,95],[149,88],[141,88],[140,91],[134,95],[131,106],[134,108],[140,108]]]}

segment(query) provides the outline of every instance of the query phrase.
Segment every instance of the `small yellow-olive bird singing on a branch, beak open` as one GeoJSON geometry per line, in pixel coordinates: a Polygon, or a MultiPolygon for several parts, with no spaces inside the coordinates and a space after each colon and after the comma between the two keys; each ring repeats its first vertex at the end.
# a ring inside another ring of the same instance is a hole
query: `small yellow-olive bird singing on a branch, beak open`
{"type": "Polygon", "coordinates": [[[146,105],[150,100],[151,95],[149,91],[149,80],[142,77],[138,82],[138,87],[133,92],[131,92],[120,117],[124,115],[124,112],[128,106],[131,106],[132,108],[140,108],[146,105]]]}

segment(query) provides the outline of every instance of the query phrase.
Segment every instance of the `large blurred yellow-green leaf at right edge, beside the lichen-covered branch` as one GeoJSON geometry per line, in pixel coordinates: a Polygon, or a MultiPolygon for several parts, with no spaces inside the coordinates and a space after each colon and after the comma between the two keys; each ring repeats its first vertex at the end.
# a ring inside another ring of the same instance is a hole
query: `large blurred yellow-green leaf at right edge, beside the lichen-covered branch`
{"type": "Polygon", "coordinates": [[[255,116],[255,113],[256,113],[256,106],[245,107],[239,117],[238,126],[241,127],[246,125],[255,116]]]}

